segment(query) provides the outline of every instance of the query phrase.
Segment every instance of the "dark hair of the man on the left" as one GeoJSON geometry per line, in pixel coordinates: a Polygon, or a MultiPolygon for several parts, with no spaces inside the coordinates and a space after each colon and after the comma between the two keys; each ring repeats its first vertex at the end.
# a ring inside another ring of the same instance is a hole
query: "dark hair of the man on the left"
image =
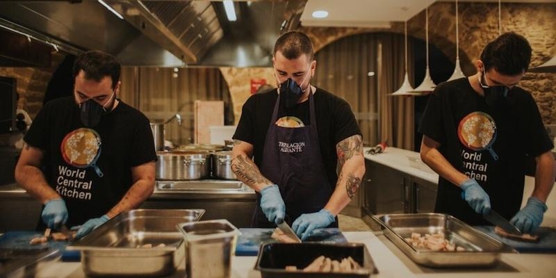
{"type": "Polygon", "coordinates": [[[120,63],[114,56],[102,51],[87,51],[77,56],[73,68],[74,81],[81,70],[85,73],[85,79],[97,82],[105,76],[111,76],[113,89],[116,88],[117,81],[120,81],[120,63]]]}

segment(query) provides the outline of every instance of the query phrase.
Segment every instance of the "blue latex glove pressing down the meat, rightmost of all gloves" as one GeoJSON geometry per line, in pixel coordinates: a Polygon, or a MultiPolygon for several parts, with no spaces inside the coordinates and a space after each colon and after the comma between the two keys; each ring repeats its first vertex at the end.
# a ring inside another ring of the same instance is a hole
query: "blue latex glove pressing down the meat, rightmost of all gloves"
{"type": "Polygon", "coordinates": [[[530,234],[543,222],[543,213],[546,212],[546,209],[548,207],[541,200],[530,197],[527,199],[525,207],[521,208],[521,211],[518,211],[509,222],[514,224],[521,232],[530,234]]]}

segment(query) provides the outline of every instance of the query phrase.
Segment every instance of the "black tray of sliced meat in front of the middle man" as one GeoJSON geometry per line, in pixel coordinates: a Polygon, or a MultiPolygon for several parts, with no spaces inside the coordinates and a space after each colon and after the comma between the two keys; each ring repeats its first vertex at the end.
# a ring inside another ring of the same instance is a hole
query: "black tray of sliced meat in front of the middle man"
{"type": "Polygon", "coordinates": [[[262,278],[274,277],[370,277],[378,273],[373,258],[362,243],[266,243],[261,245],[255,269],[262,278]],[[286,271],[286,265],[303,269],[318,256],[341,260],[351,256],[362,268],[358,272],[303,272],[286,271]]]}

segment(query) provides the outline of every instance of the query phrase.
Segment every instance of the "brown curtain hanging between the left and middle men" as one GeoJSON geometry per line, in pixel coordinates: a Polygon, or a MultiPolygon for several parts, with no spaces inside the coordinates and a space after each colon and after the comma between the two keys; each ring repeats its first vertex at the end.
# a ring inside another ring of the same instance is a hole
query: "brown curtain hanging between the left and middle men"
{"type": "Polygon", "coordinates": [[[179,113],[182,123],[165,126],[166,140],[175,145],[193,142],[195,100],[224,101],[224,124],[234,123],[229,90],[218,68],[129,67],[122,70],[121,98],[145,113],[151,121],[179,113]]]}

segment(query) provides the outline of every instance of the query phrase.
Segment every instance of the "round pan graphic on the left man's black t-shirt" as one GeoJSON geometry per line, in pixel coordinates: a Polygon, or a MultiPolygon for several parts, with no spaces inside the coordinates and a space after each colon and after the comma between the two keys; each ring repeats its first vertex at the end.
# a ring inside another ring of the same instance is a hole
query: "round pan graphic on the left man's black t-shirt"
{"type": "Polygon", "coordinates": [[[92,167],[99,177],[104,176],[96,164],[101,151],[97,131],[81,128],[67,133],[60,151],[66,163],[78,168],[92,167]]]}

